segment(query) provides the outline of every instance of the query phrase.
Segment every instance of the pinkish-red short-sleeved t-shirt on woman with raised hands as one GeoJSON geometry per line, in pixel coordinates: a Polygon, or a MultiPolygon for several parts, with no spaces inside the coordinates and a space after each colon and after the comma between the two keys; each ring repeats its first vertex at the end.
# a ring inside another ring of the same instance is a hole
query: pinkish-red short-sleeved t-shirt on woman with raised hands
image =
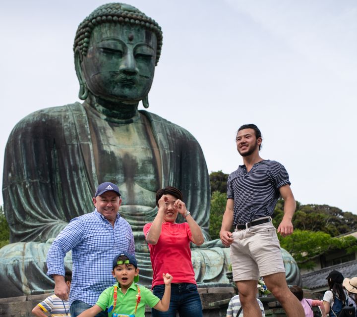
{"type": "MultiPolygon", "coordinates": [[[[151,224],[151,222],[145,224],[145,236],[151,224]]],[[[158,243],[155,245],[148,243],[154,271],[152,287],[164,284],[163,273],[170,273],[173,276],[173,283],[196,284],[189,247],[191,236],[187,222],[162,224],[158,243]]]]}

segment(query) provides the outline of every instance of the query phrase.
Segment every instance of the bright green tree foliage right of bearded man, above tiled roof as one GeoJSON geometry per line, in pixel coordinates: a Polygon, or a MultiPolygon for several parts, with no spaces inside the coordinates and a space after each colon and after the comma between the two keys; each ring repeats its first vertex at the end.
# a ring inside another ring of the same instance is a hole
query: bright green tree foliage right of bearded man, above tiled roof
{"type": "Polygon", "coordinates": [[[278,238],[281,247],[293,256],[300,269],[313,268],[315,257],[332,251],[346,250],[348,254],[357,251],[357,239],[353,236],[337,238],[321,231],[296,229],[292,235],[284,238],[278,235],[278,238]]]}

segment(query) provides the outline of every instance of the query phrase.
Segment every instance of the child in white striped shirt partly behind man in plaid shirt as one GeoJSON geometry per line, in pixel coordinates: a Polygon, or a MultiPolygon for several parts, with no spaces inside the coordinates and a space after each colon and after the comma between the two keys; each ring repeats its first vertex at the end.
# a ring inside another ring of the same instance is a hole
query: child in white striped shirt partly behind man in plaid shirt
{"type": "MultiPolygon", "coordinates": [[[[69,289],[72,281],[72,273],[65,272],[64,280],[69,289]]],[[[32,310],[32,314],[37,317],[48,317],[45,313],[50,313],[51,316],[56,317],[70,317],[68,300],[62,301],[54,294],[37,304],[32,310]]]]}

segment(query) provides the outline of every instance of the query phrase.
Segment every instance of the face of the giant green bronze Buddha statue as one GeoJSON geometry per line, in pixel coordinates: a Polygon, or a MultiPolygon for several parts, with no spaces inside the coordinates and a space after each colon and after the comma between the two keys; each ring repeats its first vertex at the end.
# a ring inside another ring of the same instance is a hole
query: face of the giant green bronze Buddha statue
{"type": "Polygon", "coordinates": [[[106,101],[139,102],[151,88],[156,47],[156,35],[140,26],[96,26],[81,62],[87,87],[106,101]]]}

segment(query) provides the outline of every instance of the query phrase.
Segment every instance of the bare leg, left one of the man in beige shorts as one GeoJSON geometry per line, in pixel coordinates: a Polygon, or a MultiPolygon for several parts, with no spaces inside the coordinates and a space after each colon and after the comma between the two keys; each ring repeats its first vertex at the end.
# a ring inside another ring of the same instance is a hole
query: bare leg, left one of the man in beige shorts
{"type": "Polygon", "coordinates": [[[262,317],[258,301],[256,300],[257,284],[258,281],[253,280],[236,282],[244,316],[262,317]]]}

